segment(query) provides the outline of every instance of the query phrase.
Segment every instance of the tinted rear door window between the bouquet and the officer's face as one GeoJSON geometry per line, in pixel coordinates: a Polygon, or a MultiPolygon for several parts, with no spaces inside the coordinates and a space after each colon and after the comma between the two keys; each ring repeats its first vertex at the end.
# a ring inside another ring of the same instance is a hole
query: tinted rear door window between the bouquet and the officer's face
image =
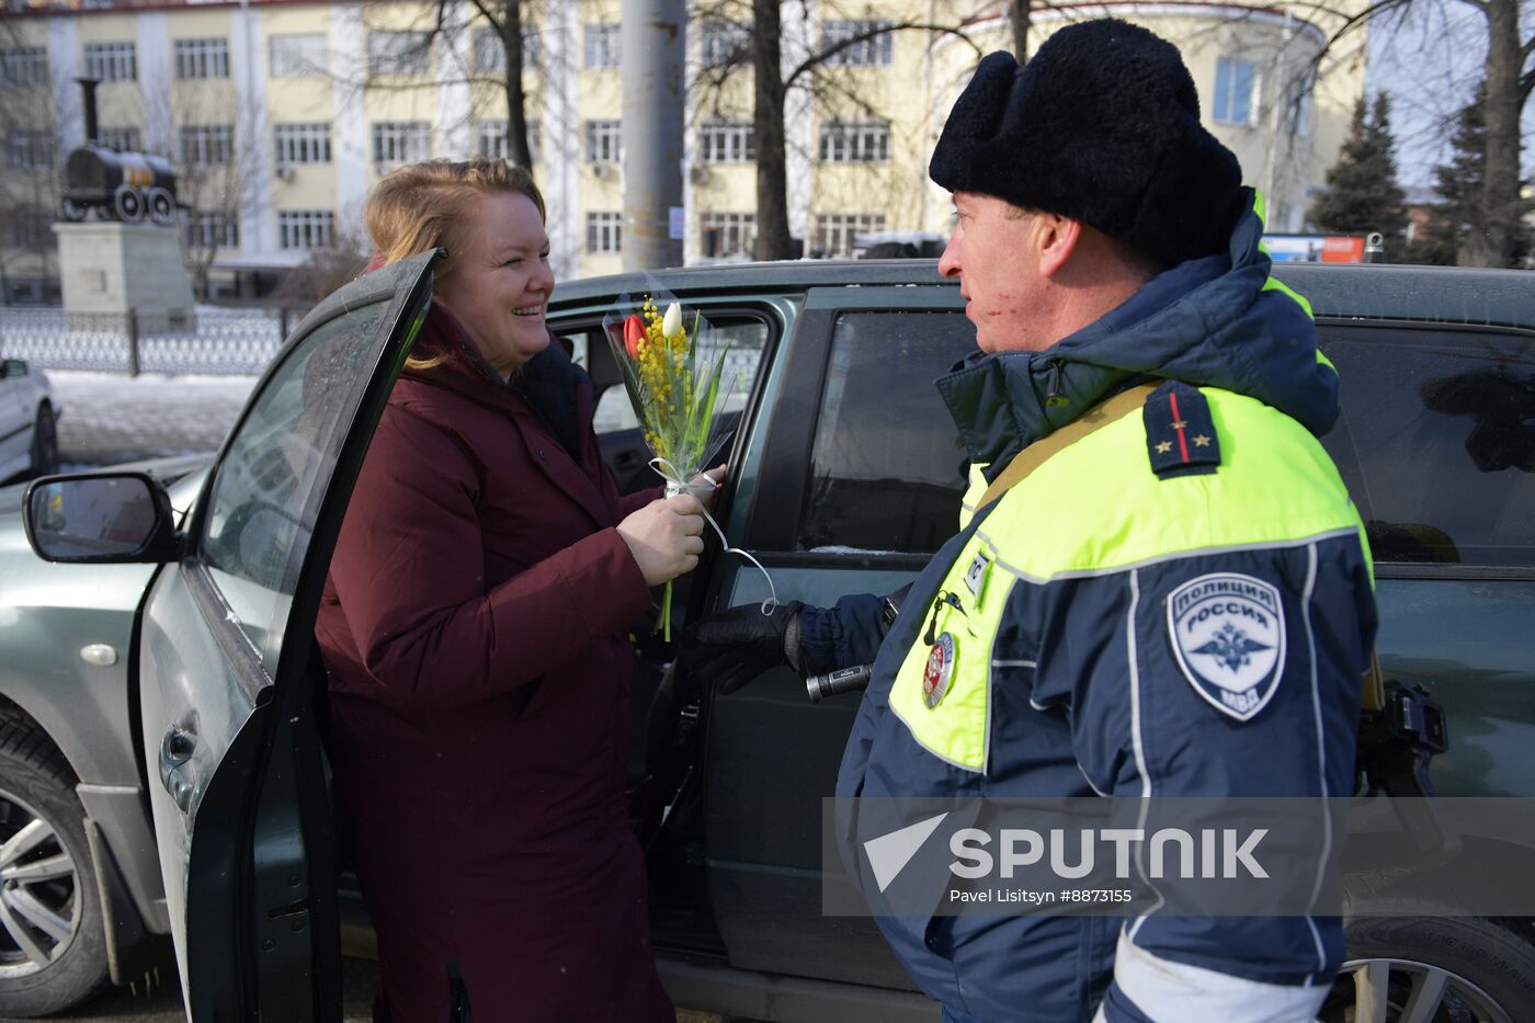
{"type": "Polygon", "coordinates": [[[970,462],[933,379],[972,352],[958,310],[837,318],[801,550],[927,555],[953,535],[970,462]]]}

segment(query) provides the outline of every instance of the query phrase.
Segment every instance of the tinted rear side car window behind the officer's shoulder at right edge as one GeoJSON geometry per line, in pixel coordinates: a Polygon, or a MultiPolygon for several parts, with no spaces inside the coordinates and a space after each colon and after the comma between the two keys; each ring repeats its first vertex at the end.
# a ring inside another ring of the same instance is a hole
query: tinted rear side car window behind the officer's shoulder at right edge
{"type": "Polygon", "coordinates": [[[1535,567],[1535,338],[1346,330],[1326,352],[1375,559],[1535,567]]]}

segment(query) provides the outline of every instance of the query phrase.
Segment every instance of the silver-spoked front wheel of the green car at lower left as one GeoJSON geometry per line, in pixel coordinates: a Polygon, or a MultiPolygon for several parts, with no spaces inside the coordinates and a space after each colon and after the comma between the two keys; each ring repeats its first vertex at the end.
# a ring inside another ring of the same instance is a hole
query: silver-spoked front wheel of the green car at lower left
{"type": "Polygon", "coordinates": [[[60,1012],[106,982],[84,809],[63,756],[0,723],[0,1017],[60,1012]]]}

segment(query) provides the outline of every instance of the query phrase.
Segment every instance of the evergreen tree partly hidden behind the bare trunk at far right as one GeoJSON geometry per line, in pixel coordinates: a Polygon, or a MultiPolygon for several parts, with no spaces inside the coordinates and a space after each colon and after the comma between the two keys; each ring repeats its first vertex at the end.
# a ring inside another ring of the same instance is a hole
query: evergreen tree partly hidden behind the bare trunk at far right
{"type": "MultiPolygon", "coordinates": [[[[1408,258],[1414,263],[1455,266],[1460,263],[1466,240],[1487,227],[1490,215],[1486,209],[1486,86],[1477,86],[1477,95],[1457,117],[1449,163],[1434,169],[1434,190],[1441,201],[1431,207],[1429,221],[1412,240],[1408,258]]],[[[1529,227],[1517,223],[1512,244],[1509,266],[1520,266],[1532,244],[1529,227]]]]}

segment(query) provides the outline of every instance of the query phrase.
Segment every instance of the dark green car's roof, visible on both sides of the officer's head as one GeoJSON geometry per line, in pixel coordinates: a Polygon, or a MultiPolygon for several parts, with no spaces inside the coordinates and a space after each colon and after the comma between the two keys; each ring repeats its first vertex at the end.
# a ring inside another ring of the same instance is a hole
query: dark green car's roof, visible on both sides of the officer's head
{"type": "MultiPolygon", "coordinates": [[[[1418,319],[1535,329],[1535,275],[1474,267],[1276,263],[1274,276],[1311,303],[1317,316],[1418,319]]],[[[553,309],[640,293],[654,280],[671,292],[783,293],[809,287],[956,287],[936,260],[791,260],[720,263],[654,273],[614,273],[562,283],[553,309]]]]}

